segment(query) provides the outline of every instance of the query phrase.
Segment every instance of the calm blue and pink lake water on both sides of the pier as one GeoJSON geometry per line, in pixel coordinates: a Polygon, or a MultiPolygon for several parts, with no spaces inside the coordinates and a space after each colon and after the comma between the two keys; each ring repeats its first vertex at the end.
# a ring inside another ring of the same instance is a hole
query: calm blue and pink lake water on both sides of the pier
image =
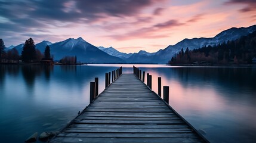
{"type": "MultiPolygon", "coordinates": [[[[0,66],[1,142],[23,142],[34,132],[60,130],[89,103],[89,85],[121,65],[0,66]]],[[[124,73],[132,65],[123,65],[124,73]]],[[[255,67],[137,65],[170,87],[169,104],[210,142],[256,141],[255,67]]]]}

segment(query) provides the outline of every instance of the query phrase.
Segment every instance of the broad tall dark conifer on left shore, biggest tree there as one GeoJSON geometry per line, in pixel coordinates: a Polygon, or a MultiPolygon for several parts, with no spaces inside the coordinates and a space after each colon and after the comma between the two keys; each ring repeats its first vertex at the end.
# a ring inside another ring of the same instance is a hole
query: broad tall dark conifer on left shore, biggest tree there
{"type": "Polygon", "coordinates": [[[21,52],[21,59],[24,62],[31,62],[36,59],[36,48],[35,42],[32,38],[26,40],[23,46],[23,50],[21,52]]]}

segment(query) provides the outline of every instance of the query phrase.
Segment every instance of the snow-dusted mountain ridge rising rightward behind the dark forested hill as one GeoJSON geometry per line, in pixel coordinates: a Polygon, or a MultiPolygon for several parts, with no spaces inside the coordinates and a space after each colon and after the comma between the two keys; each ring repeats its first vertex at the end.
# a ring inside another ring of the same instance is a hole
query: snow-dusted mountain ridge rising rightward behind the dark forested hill
{"type": "MultiPolygon", "coordinates": [[[[214,38],[193,38],[184,39],[175,45],[169,45],[165,49],[160,49],[158,52],[150,53],[147,55],[134,54],[128,58],[128,63],[159,63],[165,64],[171,60],[174,54],[177,54],[181,48],[197,49],[208,45],[218,45],[219,43],[232,41],[240,38],[241,36],[249,35],[256,30],[256,25],[250,27],[231,28],[224,30],[216,35],[214,38]]],[[[140,52],[139,52],[140,53],[140,52]]]]}

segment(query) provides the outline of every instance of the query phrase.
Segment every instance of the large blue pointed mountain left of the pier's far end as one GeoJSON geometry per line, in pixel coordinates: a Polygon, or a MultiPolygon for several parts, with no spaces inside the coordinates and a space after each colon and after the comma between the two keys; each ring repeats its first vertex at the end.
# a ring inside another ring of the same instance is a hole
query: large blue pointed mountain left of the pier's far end
{"type": "Polygon", "coordinates": [[[65,56],[76,56],[78,61],[84,63],[125,63],[121,58],[113,57],[101,51],[82,38],[69,38],[65,41],[51,44],[50,48],[51,54],[54,55],[54,60],[60,60],[65,56]]]}

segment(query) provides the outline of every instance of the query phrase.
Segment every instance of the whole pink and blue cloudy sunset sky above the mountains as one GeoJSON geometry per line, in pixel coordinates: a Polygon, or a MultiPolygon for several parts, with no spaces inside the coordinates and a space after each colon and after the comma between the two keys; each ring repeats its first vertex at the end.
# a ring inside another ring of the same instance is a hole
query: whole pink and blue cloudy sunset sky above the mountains
{"type": "Polygon", "coordinates": [[[5,46],[82,37],[121,52],[156,52],[256,24],[255,0],[0,0],[5,46]]]}

